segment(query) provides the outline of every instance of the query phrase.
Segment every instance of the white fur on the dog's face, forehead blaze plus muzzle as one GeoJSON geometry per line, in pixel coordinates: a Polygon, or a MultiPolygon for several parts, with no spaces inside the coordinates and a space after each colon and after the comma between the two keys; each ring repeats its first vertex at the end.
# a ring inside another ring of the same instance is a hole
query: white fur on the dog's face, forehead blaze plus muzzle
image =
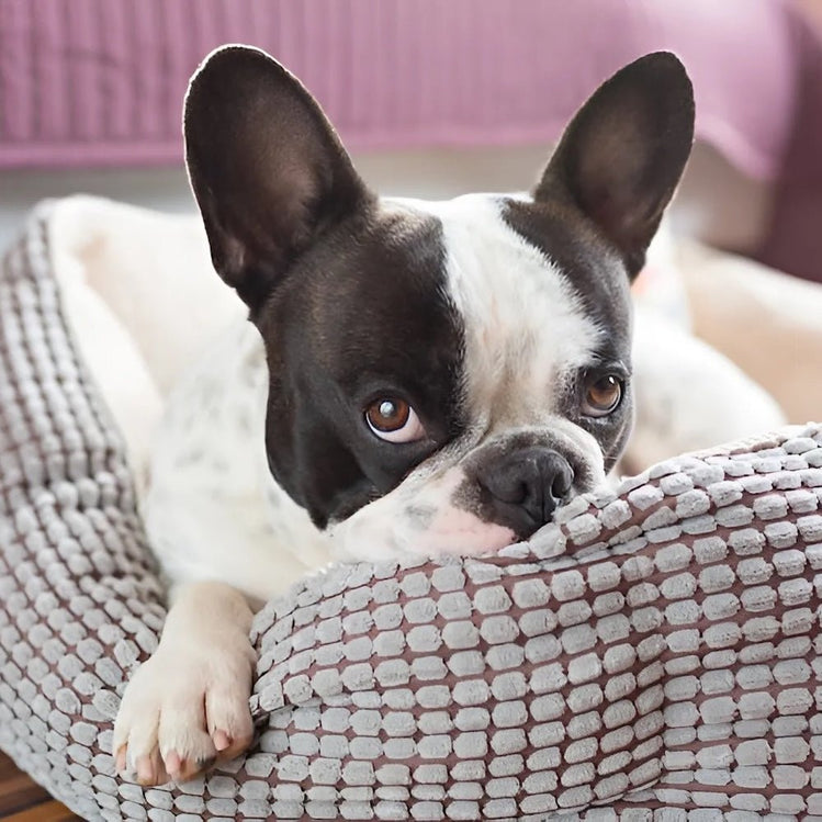
{"type": "Polygon", "coordinates": [[[469,430],[423,463],[393,492],[331,531],[348,559],[396,552],[481,553],[504,548],[514,533],[480,520],[454,498],[465,478],[460,463],[500,432],[529,429],[561,437],[604,480],[603,453],[585,430],[560,416],[563,380],[589,364],[601,329],[583,311],[565,275],[510,228],[500,198],[466,194],[446,202],[389,201],[389,207],[441,221],[447,296],[465,325],[464,386],[469,430]],[[433,509],[425,527],[413,516],[433,509]]]}

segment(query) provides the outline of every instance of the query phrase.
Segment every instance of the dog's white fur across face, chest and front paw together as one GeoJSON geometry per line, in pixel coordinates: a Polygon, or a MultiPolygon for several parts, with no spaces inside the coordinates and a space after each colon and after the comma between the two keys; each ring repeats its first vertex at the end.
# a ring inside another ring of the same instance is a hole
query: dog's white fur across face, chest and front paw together
{"type": "Polygon", "coordinates": [[[128,752],[127,765],[143,781],[168,776],[172,751],[185,763],[172,776],[193,773],[217,755],[217,729],[245,739],[250,646],[236,630],[246,615],[235,590],[267,599],[333,558],[503,548],[514,539],[509,529],[454,502],[465,478],[461,461],[503,431],[550,428],[601,476],[596,441],[556,413],[558,384],[588,361],[599,335],[562,273],[505,225],[495,198],[387,207],[427,210],[442,221],[447,292],[465,324],[469,430],[393,492],[320,534],[268,470],[267,371],[257,330],[229,329],[205,352],[170,397],[145,498],[150,542],[179,593],[115,727],[115,751],[128,752]],[[203,703],[205,710],[191,708],[203,703]]]}

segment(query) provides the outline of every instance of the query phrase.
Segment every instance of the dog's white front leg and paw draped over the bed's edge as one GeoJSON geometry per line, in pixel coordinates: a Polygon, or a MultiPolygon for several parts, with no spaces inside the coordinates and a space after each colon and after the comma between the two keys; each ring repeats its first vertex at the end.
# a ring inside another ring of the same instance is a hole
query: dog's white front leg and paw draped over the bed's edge
{"type": "Polygon", "coordinates": [[[248,747],[251,618],[243,594],[223,583],[173,592],[160,644],[128,683],[114,725],[121,773],[142,785],[184,781],[248,747]]]}

